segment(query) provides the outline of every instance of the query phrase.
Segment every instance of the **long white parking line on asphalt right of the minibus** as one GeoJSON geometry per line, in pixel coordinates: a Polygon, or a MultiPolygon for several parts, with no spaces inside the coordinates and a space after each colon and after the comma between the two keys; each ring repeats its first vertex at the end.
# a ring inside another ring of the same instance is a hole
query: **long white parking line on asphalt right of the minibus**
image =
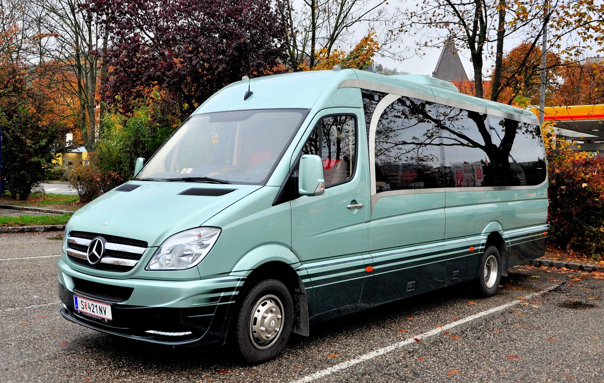
{"type": "MultiPolygon", "coordinates": [[[[559,283],[556,286],[552,286],[548,289],[545,289],[544,291],[533,292],[532,294],[525,295],[524,298],[530,299],[530,298],[536,297],[538,295],[545,294],[546,292],[552,291],[553,289],[557,288],[560,285],[562,285],[562,283],[559,283]]],[[[449,324],[445,324],[445,326],[437,327],[434,330],[430,330],[428,332],[412,336],[411,338],[407,338],[406,340],[401,341],[399,343],[391,344],[390,346],[383,347],[382,349],[377,349],[370,353],[366,353],[364,355],[358,356],[354,359],[350,359],[349,361],[345,361],[345,362],[336,364],[333,367],[329,367],[328,369],[321,370],[321,371],[315,372],[311,375],[304,376],[304,378],[298,379],[297,381],[293,381],[292,383],[306,383],[306,382],[315,381],[316,379],[324,378],[327,375],[332,375],[333,373],[336,373],[338,371],[345,370],[349,367],[352,367],[355,364],[359,364],[361,362],[368,361],[373,358],[377,358],[377,356],[384,355],[385,353],[392,352],[396,349],[400,349],[404,346],[407,346],[408,344],[416,343],[416,340],[415,340],[416,338],[419,340],[424,340],[426,338],[429,338],[430,336],[434,336],[439,333],[445,332],[446,330],[452,329],[453,327],[460,326],[460,324],[468,323],[468,322],[476,320],[478,318],[485,317],[486,315],[490,315],[495,312],[502,311],[504,309],[507,309],[507,307],[514,306],[515,304],[518,304],[520,302],[522,302],[522,300],[515,300],[515,301],[509,302],[506,304],[502,304],[501,306],[497,306],[492,309],[489,309],[489,310],[486,310],[483,312],[479,312],[478,314],[470,315],[469,317],[457,320],[457,321],[449,323],[449,324]]]]}

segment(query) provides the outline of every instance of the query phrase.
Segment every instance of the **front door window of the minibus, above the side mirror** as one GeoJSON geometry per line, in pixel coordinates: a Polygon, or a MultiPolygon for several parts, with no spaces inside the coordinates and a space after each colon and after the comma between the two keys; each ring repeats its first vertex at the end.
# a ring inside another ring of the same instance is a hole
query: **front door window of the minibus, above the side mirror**
{"type": "Polygon", "coordinates": [[[302,153],[323,159],[326,187],[352,178],[356,161],[356,118],[350,115],[321,118],[302,153]]]}

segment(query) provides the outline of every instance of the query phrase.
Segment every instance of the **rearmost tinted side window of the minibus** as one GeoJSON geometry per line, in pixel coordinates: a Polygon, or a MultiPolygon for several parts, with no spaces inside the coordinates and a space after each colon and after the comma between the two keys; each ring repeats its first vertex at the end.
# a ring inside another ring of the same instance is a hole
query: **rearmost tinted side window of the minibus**
{"type": "Polygon", "coordinates": [[[545,181],[541,129],[509,118],[489,116],[498,186],[534,186],[545,181]]]}

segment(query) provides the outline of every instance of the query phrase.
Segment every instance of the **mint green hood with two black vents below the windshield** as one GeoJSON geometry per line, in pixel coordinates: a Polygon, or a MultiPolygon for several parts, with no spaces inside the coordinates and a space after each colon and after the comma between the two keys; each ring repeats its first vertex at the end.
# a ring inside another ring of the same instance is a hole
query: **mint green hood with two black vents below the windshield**
{"type": "Polygon", "coordinates": [[[159,246],[172,234],[203,225],[260,187],[130,181],[76,211],[66,231],[126,237],[159,246]]]}

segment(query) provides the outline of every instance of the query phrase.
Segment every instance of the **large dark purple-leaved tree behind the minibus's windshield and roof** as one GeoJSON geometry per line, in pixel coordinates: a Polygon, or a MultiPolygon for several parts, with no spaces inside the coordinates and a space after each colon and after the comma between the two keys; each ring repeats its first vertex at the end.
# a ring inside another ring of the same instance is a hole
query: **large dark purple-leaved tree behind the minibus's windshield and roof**
{"type": "Polygon", "coordinates": [[[123,105],[152,86],[175,98],[182,117],[242,76],[283,59],[278,14],[261,0],[92,0],[106,25],[107,100],[123,105]]]}

